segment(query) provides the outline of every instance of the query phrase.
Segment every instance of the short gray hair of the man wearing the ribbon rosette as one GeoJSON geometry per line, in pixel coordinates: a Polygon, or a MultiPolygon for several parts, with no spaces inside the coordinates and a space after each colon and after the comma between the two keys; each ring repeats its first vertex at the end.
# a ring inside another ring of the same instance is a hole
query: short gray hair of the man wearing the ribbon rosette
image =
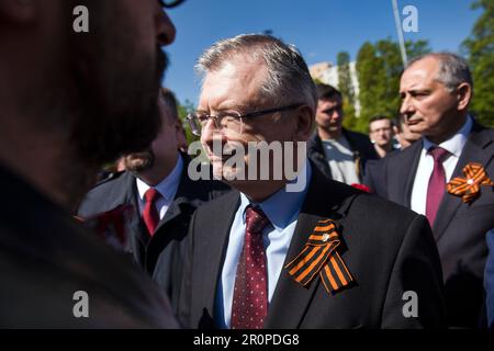
{"type": "Polygon", "coordinates": [[[411,60],[406,68],[424,58],[435,58],[439,61],[439,71],[436,79],[452,92],[461,83],[469,83],[473,91],[472,73],[464,58],[451,53],[431,53],[418,56],[411,60]]]}

